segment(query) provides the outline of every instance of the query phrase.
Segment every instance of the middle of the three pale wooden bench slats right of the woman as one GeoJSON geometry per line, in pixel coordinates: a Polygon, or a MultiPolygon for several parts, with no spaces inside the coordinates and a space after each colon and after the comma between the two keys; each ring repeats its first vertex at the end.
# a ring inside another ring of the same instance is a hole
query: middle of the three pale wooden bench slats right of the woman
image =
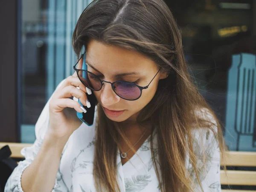
{"type": "Polygon", "coordinates": [[[221,184],[256,186],[256,172],[227,170],[225,173],[221,170],[221,184]]]}

